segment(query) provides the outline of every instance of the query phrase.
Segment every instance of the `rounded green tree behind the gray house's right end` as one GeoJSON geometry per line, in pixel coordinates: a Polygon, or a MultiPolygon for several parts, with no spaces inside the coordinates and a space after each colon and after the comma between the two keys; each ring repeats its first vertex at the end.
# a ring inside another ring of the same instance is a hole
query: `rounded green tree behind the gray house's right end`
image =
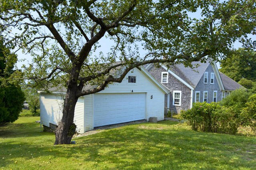
{"type": "Polygon", "coordinates": [[[232,51],[225,60],[221,61],[220,66],[220,71],[236,82],[242,78],[256,81],[256,51],[254,50],[240,48],[232,51]]]}

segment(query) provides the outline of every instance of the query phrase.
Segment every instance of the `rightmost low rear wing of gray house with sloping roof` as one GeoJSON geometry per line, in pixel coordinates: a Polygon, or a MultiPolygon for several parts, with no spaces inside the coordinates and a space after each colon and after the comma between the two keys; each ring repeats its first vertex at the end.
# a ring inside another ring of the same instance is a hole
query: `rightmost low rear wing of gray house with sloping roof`
{"type": "MultiPolygon", "coordinates": [[[[219,71],[220,72],[220,71],[219,71]]],[[[230,94],[230,92],[239,89],[244,88],[240,84],[238,84],[236,81],[234,81],[232,78],[229,78],[222,72],[220,72],[220,77],[224,86],[224,91],[222,91],[222,99],[224,99],[226,96],[230,94]]]]}

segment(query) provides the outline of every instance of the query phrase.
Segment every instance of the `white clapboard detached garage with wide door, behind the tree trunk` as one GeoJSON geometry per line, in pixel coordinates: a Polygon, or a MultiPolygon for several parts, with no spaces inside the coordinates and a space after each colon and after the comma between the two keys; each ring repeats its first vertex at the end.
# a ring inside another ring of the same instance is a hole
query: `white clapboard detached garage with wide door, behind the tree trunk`
{"type": "MultiPolygon", "coordinates": [[[[92,88],[86,86],[84,88],[92,88]]],[[[40,91],[40,120],[46,127],[58,125],[62,117],[65,89],[51,94],[40,91]]],[[[74,123],[83,133],[105,125],[147,120],[164,120],[164,95],[168,93],[144,67],[134,68],[121,83],[110,84],[96,94],[82,96],[75,107],[74,123]]]]}

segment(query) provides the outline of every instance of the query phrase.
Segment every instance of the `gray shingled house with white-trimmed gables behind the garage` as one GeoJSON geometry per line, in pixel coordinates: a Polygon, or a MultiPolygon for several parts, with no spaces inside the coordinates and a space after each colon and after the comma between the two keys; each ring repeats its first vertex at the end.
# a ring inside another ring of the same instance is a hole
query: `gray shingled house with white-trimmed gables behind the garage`
{"type": "Polygon", "coordinates": [[[214,61],[192,62],[192,65],[199,66],[190,68],[183,64],[175,64],[170,69],[164,65],[160,68],[154,64],[145,66],[156,80],[169,89],[169,94],[165,95],[164,106],[176,113],[190,109],[194,102],[218,102],[231,90],[241,87],[226,75],[223,74],[221,77],[214,61]]]}

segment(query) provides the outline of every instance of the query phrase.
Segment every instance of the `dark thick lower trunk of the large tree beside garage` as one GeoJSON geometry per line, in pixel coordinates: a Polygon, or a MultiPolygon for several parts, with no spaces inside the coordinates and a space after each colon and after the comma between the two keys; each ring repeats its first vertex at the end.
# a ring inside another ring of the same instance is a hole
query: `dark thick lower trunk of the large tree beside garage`
{"type": "Polygon", "coordinates": [[[78,98],[76,97],[76,87],[68,87],[66,98],[63,104],[62,119],[55,131],[54,145],[70,144],[75,133],[76,125],[74,121],[75,106],[78,98]]]}

